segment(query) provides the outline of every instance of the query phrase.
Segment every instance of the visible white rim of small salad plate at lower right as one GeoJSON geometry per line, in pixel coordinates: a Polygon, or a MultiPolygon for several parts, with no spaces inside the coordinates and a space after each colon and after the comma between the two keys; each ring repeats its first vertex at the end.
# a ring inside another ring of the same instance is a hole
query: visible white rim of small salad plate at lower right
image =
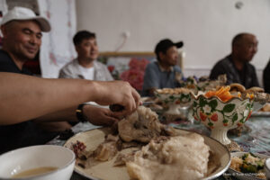
{"type": "MultiPolygon", "coordinates": [[[[232,152],[230,153],[230,157],[242,157],[244,154],[247,154],[248,152],[232,152]]],[[[259,153],[253,153],[257,157],[261,158],[269,158],[267,155],[259,154],[259,153]]],[[[229,167],[228,172],[230,175],[236,176],[239,180],[262,180],[261,178],[258,178],[254,175],[248,175],[241,172],[238,172],[232,168],[229,167]]]]}

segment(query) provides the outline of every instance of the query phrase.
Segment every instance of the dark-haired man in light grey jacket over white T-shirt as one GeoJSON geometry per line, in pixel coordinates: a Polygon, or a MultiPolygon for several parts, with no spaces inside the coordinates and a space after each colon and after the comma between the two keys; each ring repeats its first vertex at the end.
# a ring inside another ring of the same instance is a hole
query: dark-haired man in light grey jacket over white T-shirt
{"type": "Polygon", "coordinates": [[[78,31],[73,38],[77,58],[67,63],[59,72],[60,78],[83,78],[88,80],[112,81],[108,68],[98,62],[98,46],[95,34],[78,31]]]}

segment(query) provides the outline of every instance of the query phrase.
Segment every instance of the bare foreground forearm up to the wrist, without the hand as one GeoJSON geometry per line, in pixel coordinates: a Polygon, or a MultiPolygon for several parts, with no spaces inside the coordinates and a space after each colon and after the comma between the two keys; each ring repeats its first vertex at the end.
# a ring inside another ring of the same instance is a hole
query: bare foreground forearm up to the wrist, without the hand
{"type": "MultiPolygon", "coordinates": [[[[91,101],[91,81],[0,74],[0,123],[12,124],[91,101]]],[[[94,95],[93,95],[94,96],[94,95]]]]}

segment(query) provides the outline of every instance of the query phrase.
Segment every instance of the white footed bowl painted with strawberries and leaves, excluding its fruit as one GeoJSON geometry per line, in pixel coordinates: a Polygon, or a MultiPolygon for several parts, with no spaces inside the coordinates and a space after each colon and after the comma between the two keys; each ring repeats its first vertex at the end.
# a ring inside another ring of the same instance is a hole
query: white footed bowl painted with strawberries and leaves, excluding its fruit
{"type": "Polygon", "coordinates": [[[233,97],[224,103],[217,96],[191,96],[194,119],[210,128],[211,137],[224,145],[230,143],[227,137],[228,130],[243,125],[253,111],[254,102],[250,99],[233,97]]]}

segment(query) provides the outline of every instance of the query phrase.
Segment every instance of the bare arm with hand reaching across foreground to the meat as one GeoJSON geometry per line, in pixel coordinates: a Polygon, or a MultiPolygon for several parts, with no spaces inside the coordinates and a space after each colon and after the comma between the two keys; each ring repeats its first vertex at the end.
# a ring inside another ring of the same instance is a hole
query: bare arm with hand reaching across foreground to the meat
{"type": "Polygon", "coordinates": [[[137,91],[124,81],[46,79],[0,72],[0,125],[28,121],[64,111],[79,103],[124,106],[118,115],[129,114],[140,103],[137,91]]]}

